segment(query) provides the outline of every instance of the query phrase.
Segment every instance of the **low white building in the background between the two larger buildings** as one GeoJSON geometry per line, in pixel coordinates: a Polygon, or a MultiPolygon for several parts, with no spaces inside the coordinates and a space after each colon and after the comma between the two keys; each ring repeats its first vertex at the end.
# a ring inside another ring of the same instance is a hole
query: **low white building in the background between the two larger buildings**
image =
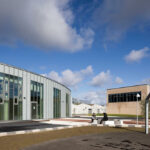
{"type": "Polygon", "coordinates": [[[73,115],[88,115],[92,113],[100,114],[105,112],[105,106],[97,104],[72,104],[73,115]]]}

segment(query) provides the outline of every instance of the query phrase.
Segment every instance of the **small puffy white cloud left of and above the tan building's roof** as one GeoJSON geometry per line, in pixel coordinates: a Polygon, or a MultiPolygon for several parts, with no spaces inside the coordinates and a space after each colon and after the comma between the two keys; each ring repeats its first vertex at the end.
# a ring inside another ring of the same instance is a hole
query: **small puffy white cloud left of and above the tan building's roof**
{"type": "Polygon", "coordinates": [[[91,81],[91,85],[101,87],[111,83],[111,81],[112,77],[110,75],[110,71],[107,70],[106,72],[100,72],[97,76],[95,76],[91,81]]]}

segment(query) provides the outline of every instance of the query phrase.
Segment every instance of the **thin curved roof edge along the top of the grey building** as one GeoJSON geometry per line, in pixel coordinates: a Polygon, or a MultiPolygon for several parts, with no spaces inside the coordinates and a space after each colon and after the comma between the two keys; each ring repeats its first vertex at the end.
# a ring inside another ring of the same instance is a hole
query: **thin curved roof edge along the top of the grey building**
{"type": "Polygon", "coordinates": [[[41,75],[41,74],[38,74],[38,73],[35,73],[35,72],[31,72],[31,71],[28,71],[28,70],[26,70],[26,69],[22,69],[22,68],[19,68],[19,67],[15,67],[15,66],[13,66],[13,65],[8,65],[8,64],[5,64],[5,63],[1,63],[1,62],[0,62],[0,64],[1,64],[1,65],[5,65],[5,66],[8,66],[8,67],[16,68],[16,69],[19,69],[19,70],[22,70],[22,71],[30,72],[30,73],[32,73],[32,74],[34,74],[34,75],[41,76],[41,77],[43,77],[43,78],[46,78],[46,79],[51,80],[51,81],[53,81],[53,82],[56,82],[56,83],[58,83],[58,84],[64,86],[65,88],[67,88],[69,91],[71,91],[71,90],[70,90],[67,86],[65,86],[64,84],[59,83],[58,81],[55,81],[55,80],[53,80],[53,79],[51,79],[51,78],[45,77],[45,76],[43,76],[43,75],[41,75]]]}

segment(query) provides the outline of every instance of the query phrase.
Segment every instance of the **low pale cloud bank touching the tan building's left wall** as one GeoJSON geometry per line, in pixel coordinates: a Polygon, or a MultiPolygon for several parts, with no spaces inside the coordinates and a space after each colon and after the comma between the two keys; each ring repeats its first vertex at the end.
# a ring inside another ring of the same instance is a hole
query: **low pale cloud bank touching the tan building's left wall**
{"type": "Polygon", "coordinates": [[[106,104],[106,91],[89,91],[81,94],[79,99],[89,101],[91,104],[106,104]]]}

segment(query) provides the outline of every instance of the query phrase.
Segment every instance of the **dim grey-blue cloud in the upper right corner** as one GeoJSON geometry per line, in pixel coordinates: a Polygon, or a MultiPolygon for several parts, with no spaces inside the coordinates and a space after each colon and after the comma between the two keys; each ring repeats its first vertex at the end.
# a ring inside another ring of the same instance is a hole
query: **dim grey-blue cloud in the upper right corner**
{"type": "Polygon", "coordinates": [[[105,41],[118,41],[131,27],[150,22],[149,0],[105,0],[94,13],[96,25],[103,27],[105,41]]]}

